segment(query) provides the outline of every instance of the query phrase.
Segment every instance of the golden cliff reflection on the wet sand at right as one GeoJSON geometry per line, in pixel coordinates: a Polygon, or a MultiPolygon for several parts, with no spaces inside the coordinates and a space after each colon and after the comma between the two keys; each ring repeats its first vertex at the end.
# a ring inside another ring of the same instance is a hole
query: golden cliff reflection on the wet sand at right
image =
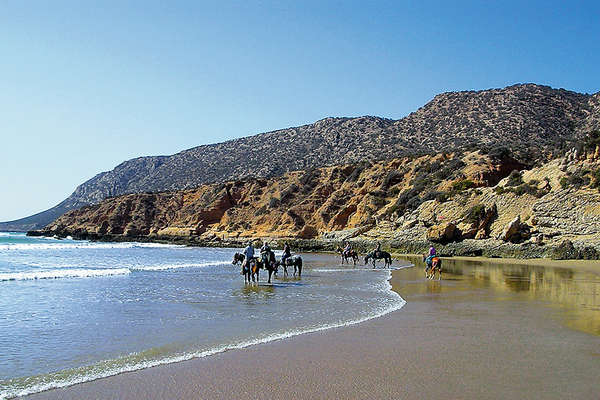
{"type": "Polygon", "coordinates": [[[403,275],[399,284],[402,295],[457,295],[489,288],[509,294],[509,300],[545,302],[560,310],[561,320],[570,328],[600,335],[600,266],[594,273],[568,267],[447,258],[443,279],[438,282],[424,280],[419,257],[406,258],[416,267],[403,275]]]}

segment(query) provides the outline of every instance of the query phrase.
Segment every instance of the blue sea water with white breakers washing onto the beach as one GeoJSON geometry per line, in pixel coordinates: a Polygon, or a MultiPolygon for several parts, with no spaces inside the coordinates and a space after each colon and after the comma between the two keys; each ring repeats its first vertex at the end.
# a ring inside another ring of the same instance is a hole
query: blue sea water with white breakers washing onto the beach
{"type": "Polygon", "coordinates": [[[390,271],[303,254],[246,285],[236,249],[0,233],[0,399],[351,325],[401,308],[390,271]]]}

